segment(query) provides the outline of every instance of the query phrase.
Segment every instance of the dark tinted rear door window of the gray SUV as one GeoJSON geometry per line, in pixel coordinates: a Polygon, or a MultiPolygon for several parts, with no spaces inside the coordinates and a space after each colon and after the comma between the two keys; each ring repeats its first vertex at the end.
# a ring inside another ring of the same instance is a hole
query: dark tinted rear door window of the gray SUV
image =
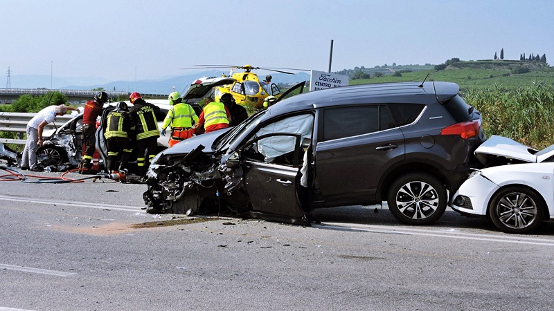
{"type": "Polygon", "coordinates": [[[323,141],[364,135],[395,127],[385,105],[346,106],[323,110],[323,141]]]}

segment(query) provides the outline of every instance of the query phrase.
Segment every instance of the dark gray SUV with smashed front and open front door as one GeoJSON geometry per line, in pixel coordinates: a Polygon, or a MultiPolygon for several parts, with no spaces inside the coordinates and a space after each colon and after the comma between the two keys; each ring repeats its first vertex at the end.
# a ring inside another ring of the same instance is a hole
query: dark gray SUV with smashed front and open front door
{"type": "Polygon", "coordinates": [[[150,213],[316,221],[322,207],[388,202],[427,225],[479,162],[481,115],[448,82],[366,84],[295,95],[232,129],[159,153],[150,213]]]}

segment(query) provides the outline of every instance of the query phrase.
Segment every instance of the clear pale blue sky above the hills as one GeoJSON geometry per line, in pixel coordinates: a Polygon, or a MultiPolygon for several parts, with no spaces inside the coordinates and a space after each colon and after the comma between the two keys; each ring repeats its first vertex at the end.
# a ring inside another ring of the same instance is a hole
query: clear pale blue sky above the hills
{"type": "MultiPolygon", "coordinates": [[[[332,71],[543,55],[554,1],[0,0],[0,70],[161,79],[198,64],[332,71]]],[[[187,74],[190,71],[186,72],[187,74]]]]}

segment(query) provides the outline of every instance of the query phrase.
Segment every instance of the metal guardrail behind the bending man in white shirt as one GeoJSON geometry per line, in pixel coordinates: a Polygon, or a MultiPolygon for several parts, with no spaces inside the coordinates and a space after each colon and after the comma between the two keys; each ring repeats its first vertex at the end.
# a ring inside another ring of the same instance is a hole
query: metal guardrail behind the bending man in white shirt
{"type": "MultiPolygon", "coordinates": [[[[23,135],[27,130],[27,123],[36,115],[36,113],[6,113],[0,112],[0,132],[20,133],[21,139],[0,138],[0,142],[7,144],[25,144],[23,135]]],[[[56,129],[65,122],[71,120],[73,115],[57,116],[54,122],[50,122],[44,129],[56,129]]]]}

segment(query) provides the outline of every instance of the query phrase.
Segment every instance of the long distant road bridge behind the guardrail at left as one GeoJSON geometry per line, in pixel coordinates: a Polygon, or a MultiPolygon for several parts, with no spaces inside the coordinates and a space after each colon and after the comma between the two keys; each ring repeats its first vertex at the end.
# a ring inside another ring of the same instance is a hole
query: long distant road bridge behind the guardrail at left
{"type": "MultiPolygon", "coordinates": [[[[60,92],[67,96],[67,99],[72,104],[77,104],[80,102],[86,102],[87,100],[92,100],[94,95],[98,93],[98,91],[92,91],[92,90],[55,90],[50,88],[0,88],[0,104],[11,104],[12,102],[15,102],[19,96],[30,94],[33,96],[42,96],[46,95],[48,92],[60,92]]],[[[130,93],[128,92],[121,92],[121,91],[105,91],[108,93],[109,97],[118,97],[120,95],[123,96],[129,96],[130,93]]],[[[163,98],[167,99],[168,95],[160,95],[160,94],[143,94],[143,97],[146,98],[163,98]]]]}

